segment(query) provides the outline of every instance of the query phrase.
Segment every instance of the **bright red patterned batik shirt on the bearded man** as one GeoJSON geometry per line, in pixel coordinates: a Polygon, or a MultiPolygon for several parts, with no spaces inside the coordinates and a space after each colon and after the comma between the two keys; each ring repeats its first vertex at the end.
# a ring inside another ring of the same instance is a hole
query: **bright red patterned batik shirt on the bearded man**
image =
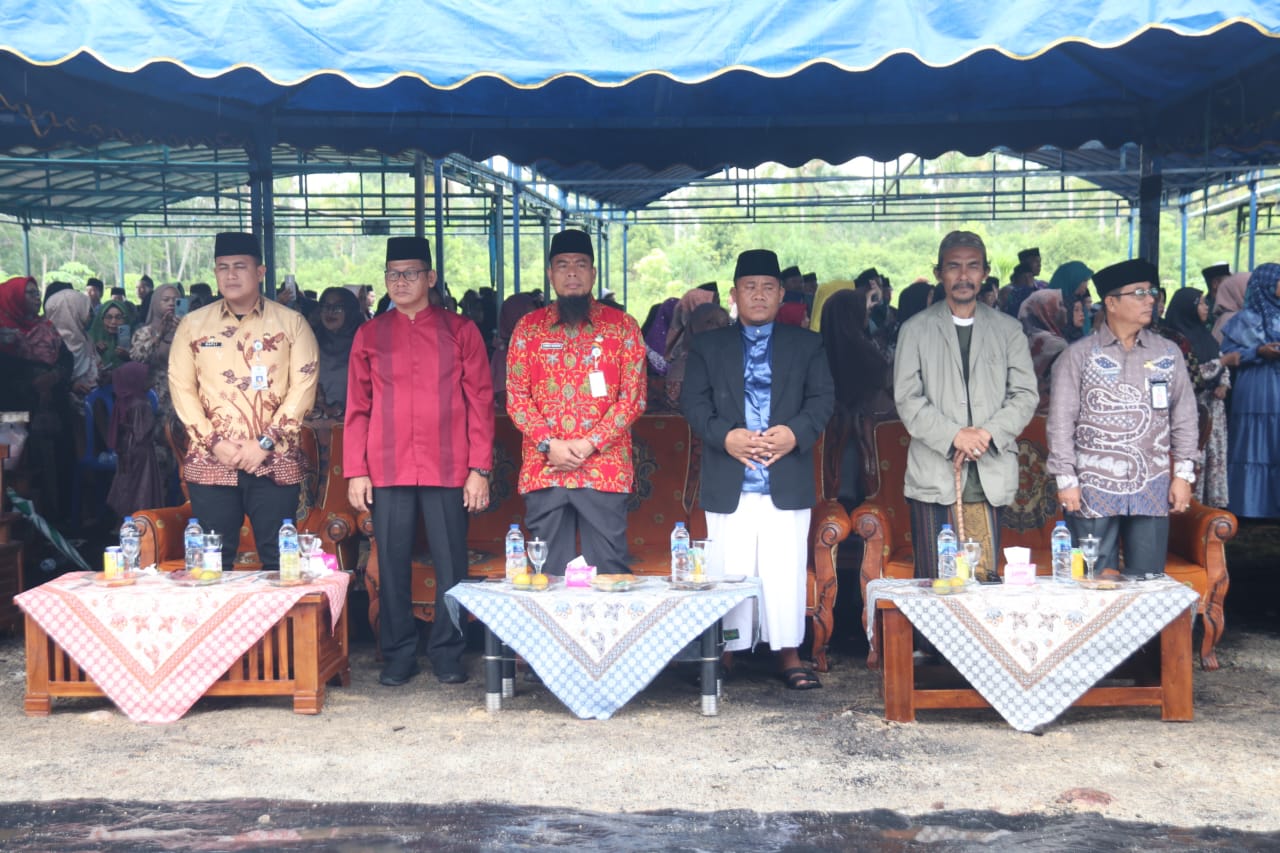
{"type": "Polygon", "coordinates": [[[563,487],[630,492],[631,424],[645,409],[645,348],[631,316],[593,300],[585,323],[559,321],[556,305],[526,315],[507,353],[507,414],[524,434],[520,493],[563,487]],[[603,374],[593,394],[591,374],[603,374]],[[543,439],[586,438],[595,452],[576,470],[553,471],[543,439]]]}

